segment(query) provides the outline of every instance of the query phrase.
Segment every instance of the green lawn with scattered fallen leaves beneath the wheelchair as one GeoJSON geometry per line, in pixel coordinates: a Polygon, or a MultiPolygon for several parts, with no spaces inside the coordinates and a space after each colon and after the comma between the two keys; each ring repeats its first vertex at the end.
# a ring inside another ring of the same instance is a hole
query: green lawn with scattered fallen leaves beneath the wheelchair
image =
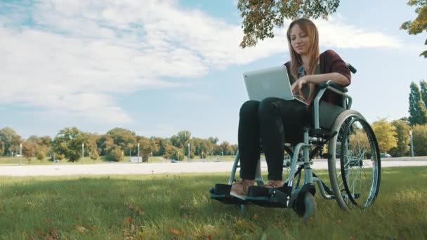
{"type": "Polygon", "coordinates": [[[228,173],[0,177],[0,239],[426,239],[426,179],[426,167],[383,168],[372,208],[343,213],[316,194],[304,225],[291,209],[240,215],[209,199],[228,173]]]}

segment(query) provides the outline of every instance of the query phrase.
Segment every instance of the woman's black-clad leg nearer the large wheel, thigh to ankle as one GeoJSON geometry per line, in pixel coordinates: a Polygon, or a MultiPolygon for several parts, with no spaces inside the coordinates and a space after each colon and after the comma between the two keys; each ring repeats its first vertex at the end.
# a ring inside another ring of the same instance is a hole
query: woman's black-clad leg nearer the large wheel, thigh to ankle
{"type": "Polygon", "coordinates": [[[296,100],[265,98],[258,107],[268,180],[282,180],[285,139],[295,143],[303,138],[310,122],[306,105],[296,100]]]}

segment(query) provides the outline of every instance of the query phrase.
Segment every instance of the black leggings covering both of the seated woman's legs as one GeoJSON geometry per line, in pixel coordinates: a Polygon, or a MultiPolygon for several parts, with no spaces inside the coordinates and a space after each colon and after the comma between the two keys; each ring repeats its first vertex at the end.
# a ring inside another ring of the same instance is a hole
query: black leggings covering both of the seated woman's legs
{"type": "Polygon", "coordinates": [[[239,117],[240,178],[255,179],[261,139],[268,180],[282,180],[285,140],[302,142],[303,128],[311,123],[306,105],[281,98],[249,100],[240,108],[239,117]]]}

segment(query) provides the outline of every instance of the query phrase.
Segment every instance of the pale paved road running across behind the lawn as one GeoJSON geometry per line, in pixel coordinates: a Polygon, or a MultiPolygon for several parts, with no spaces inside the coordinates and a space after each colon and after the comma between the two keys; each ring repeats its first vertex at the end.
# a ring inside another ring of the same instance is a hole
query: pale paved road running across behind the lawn
{"type": "MultiPolygon", "coordinates": [[[[382,167],[427,166],[426,157],[404,157],[382,159],[382,167]]],[[[37,176],[37,175],[112,175],[112,174],[153,174],[153,173],[227,173],[232,162],[180,162],[160,164],[91,164],[91,165],[29,165],[0,166],[0,175],[37,176]]],[[[265,162],[262,171],[267,171],[265,162]]],[[[313,169],[327,169],[327,161],[315,160],[313,169]]]]}

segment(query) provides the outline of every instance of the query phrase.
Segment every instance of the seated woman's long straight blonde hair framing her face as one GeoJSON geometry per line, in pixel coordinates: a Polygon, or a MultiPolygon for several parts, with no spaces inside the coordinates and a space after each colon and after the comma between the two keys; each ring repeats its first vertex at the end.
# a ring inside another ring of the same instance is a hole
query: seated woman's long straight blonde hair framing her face
{"type": "MultiPolygon", "coordinates": [[[[294,51],[294,48],[292,48],[291,44],[291,29],[294,27],[294,25],[298,25],[298,27],[303,30],[303,32],[306,32],[306,34],[310,37],[311,43],[310,48],[308,49],[308,69],[306,71],[306,75],[313,75],[315,74],[315,70],[317,67],[317,63],[319,62],[319,32],[317,32],[316,25],[308,20],[307,18],[298,18],[291,22],[288,28],[287,32],[287,39],[288,39],[288,46],[289,46],[289,53],[291,54],[291,76],[294,77],[294,81],[298,79],[298,67],[301,67],[303,65],[303,61],[301,60],[301,57],[296,51],[294,51]]],[[[314,93],[315,93],[315,84],[308,84],[310,87],[310,93],[308,94],[308,98],[306,102],[310,104],[313,101],[314,93]]],[[[301,89],[298,91],[299,95],[303,97],[303,93],[301,89]]]]}

